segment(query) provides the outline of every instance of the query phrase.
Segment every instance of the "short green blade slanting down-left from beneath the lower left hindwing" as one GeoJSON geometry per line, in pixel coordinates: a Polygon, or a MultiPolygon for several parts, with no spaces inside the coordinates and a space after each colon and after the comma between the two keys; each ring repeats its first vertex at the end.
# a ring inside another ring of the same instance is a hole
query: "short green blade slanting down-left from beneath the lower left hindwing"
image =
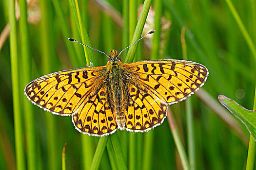
{"type": "Polygon", "coordinates": [[[106,148],[108,138],[109,138],[108,136],[104,136],[104,137],[99,138],[98,145],[97,145],[94,157],[93,157],[91,170],[98,170],[103,152],[106,148]]]}

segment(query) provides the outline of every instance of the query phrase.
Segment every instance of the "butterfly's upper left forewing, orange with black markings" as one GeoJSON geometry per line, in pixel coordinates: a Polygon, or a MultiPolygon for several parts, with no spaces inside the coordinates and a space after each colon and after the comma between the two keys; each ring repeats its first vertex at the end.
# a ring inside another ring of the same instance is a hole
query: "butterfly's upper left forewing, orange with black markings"
{"type": "Polygon", "coordinates": [[[53,114],[71,115],[101,81],[104,67],[78,68],[42,76],[25,87],[25,95],[53,114]]]}

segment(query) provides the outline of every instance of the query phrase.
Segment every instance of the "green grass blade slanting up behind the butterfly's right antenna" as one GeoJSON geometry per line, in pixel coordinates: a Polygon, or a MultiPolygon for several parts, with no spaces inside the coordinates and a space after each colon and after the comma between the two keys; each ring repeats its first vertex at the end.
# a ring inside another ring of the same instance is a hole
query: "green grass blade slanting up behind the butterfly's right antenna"
{"type": "MultiPolygon", "coordinates": [[[[136,29],[135,29],[135,32],[134,32],[134,35],[133,35],[132,43],[136,42],[141,37],[143,27],[145,25],[146,18],[147,18],[147,15],[148,15],[148,11],[149,11],[149,8],[150,8],[150,5],[151,5],[151,1],[152,0],[145,0],[144,1],[142,10],[141,10],[139,18],[138,18],[138,23],[137,23],[137,26],[136,26],[136,29]]],[[[125,63],[130,63],[130,62],[133,61],[134,56],[135,56],[135,52],[137,50],[137,47],[138,47],[138,43],[129,48],[129,51],[127,53],[127,57],[125,59],[125,63]]]]}

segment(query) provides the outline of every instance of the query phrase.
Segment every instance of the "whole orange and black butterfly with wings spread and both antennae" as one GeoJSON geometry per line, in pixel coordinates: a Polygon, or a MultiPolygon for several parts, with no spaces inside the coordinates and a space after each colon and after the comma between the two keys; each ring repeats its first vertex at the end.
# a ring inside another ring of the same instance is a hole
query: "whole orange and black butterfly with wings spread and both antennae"
{"type": "Polygon", "coordinates": [[[109,57],[106,66],[42,76],[25,87],[25,95],[46,111],[72,116],[83,134],[106,136],[117,129],[146,132],[163,122],[168,104],[187,99],[204,85],[209,74],[205,66],[191,61],[122,63],[120,53],[104,53],[109,57]]]}

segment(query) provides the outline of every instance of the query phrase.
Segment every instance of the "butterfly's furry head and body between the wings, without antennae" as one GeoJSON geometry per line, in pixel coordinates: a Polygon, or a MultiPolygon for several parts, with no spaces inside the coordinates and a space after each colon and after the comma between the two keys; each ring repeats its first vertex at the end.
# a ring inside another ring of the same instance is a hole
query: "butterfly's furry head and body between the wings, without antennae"
{"type": "Polygon", "coordinates": [[[125,129],[125,115],[124,109],[126,108],[126,96],[127,84],[123,79],[123,63],[118,57],[117,51],[110,51],[110,58],[107,64],[107,95],[108,99],[113,99],[113,101],[108,101],[113,111],[116,113],[116,121],[118,128],[120,130],[125,129]]]}

